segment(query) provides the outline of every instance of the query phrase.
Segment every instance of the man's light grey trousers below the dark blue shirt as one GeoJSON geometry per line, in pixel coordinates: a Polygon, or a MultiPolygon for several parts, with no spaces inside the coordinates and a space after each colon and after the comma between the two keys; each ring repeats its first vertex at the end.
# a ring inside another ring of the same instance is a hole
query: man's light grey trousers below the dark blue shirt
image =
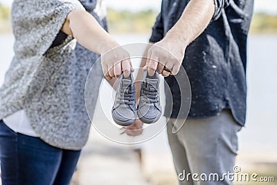
{"type": "Polygon", "coordinates": [[[231,111],[224,109],[209,118],[188,119],[177,134],[172,134],[175,121],[185,120],[170,118],[168,123],[168,141],[179,184],[233,184],[229,174],[234,173],[237,133],[242,127],[231,111]]]}

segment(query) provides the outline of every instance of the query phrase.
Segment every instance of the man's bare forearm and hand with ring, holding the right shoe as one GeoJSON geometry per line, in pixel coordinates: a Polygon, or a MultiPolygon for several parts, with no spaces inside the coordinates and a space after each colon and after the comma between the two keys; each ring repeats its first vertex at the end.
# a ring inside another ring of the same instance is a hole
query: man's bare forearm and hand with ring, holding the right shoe
{"type": "Polygon", "coordinates": [[[170,73],[176,75],[184,59],[186,47],[205,30],[214,12],[213,0],[190,0],[166,37],[149,49],[144,69],[150,69],[150,76],[156,69],[163,76],[169,76],[170,73]],[[167,69],[164,70],[164,67],[167,69]]]}

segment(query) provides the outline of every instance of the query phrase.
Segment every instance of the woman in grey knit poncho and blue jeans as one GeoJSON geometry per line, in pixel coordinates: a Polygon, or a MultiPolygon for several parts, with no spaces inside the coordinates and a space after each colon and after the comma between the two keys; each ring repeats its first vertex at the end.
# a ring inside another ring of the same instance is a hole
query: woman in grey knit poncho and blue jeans
{"type": "MultiPolygon", "coordinates": [[[[3,185],[69,184],[89,136],[84,84],[98,58],[91,51],[102,55],[119,46],[102,28],[103,10],[101,1],[91,0],[13,2],[15,56],[0,89],[3,185]],[[73,37],[88,50],[75,48],[73,37]]],[[[133,70],[123,60],[128,57],[120,47],[103,56],[105,76],[133,70]]],[[[95,78],[96,103],[102,73],[95,78]]]]}

